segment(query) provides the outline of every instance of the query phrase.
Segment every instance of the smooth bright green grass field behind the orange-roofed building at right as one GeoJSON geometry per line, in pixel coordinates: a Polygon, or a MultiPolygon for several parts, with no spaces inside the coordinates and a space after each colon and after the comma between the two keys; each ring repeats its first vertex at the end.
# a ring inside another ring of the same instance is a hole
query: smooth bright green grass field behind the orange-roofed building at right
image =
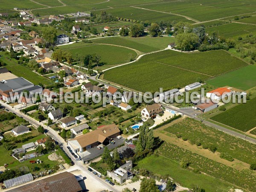
{"type": "Polygon", "coordinates": [[[216,87],[230,86],[241,90],[248,90],[256,86],[255,74],[256,66],[249,65],[213,79],[209,79],[207,83],[216,87]]]}

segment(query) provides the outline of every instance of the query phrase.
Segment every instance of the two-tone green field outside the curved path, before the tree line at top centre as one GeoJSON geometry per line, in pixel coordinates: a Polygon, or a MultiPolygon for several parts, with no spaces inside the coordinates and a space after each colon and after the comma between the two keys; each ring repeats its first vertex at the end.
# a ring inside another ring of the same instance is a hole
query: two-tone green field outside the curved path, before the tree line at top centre
{"type": "Polygon", "coordinates": [[[172,37],[156,37],[149,36],[140,38],[131,37],[112,37],[112,38],[99,38],[92,40],[98,44],[114,44],[124,47],[130,47],[140,52],[152,52],[160,49],[164,49],[168,44],[175,42],[175,38],[172,37]]]}

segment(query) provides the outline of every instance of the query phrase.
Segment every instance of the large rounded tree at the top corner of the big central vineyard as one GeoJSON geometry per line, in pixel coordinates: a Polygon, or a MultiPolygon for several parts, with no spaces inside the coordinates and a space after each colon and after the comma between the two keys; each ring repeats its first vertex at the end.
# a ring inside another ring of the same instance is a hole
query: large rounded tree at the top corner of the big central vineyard
{"type": "Polygon", "coordinates": [[[195,50],[198,47],[199,37],[195,33],[181,33],[176,35],[177,48],[182,51],[195,50]]]}

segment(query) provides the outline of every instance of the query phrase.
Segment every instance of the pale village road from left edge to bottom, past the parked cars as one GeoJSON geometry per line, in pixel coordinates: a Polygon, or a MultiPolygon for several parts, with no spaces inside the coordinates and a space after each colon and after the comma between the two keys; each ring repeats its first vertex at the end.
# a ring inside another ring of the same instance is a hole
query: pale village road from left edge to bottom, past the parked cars
{"type": "MultiPolygon", "coordinates": [[[[70,152],[67,150],[67,143],[64,141],[64,139],[62,137],[60,137],[58,135],[58,133],[56,131],[47,127],[43,123],[36,121],[32,117],[21,113],[20,110],[12,108],[10,105],[8,105],[2,101],[0,102],[0,104],[3,107],[5,107],[6,109],[8,109],[9,112],[15,113],[17,116],[23,117],[23,119],[29,121],[29,123],[32,124],[33,126],[35,126],[35,127],[38,127],[39,125],[43,126],[44,129],[47,130],[47,134],[50,135],[54,140],[58,141],[59,145],[62,146],[62,148],[66,152],[66,154],[73,160],[73,162],[75,163],[74,167],[78,168],[78,170],[81,170],[82,172],[85,173],[85,175],[83,175],[84,177],[87,177],[87,179],[85,180],[85,184],[86,183],[95,183],[97,185],[100,185],[102,187],[102,189],[108,189],[113,192],[119,191],[118,186],[111,186],[110,184],[106,183],[105,180],[100,179],[99,177],[94,177],[94,175],[87,170],[87,167],[82,163],[82,161],[76,161],[75,158],[72,156],[72,154],[70,154],[70,152]]],[[[70,167],[70,169],[73,170],[74,169],[73,166],[70,167]]],[[[65,171],[69,171],[70,169],[67,169],[65,171]]],[[[89,190],[93,191],[93,188],[89,189],[89,190]]]]}

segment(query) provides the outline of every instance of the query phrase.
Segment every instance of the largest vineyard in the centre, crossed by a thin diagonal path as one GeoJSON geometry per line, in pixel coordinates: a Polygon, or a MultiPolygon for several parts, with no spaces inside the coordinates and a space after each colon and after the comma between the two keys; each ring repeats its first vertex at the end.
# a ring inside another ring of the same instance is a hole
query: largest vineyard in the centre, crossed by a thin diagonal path
{"type": "Polygon", "coordinates": [[[184,87],[197,78],[207,80],[245,65],[222,50],[195,53],[165,50],[145,55],[133,64],[107,70],[103,78],[133,90],[154,92],[159,87],[164,90],[184,87]],[[225,67],[222,67],[224,62],[225,67]]]}

